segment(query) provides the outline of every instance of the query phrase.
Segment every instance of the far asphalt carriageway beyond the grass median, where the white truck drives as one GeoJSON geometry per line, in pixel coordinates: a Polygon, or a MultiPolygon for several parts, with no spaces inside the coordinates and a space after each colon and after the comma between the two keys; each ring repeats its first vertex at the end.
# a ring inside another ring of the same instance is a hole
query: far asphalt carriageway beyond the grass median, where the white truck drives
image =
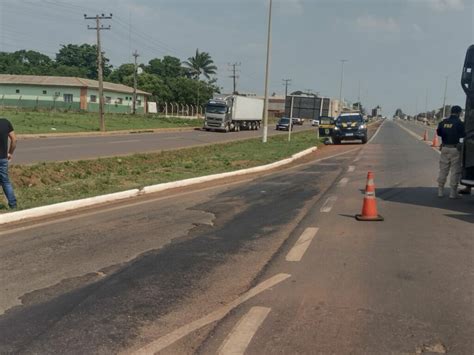
{"type": "MultiPolygon", "coordinates": [[[[295,126],[295,132],[315,129],[309,124],[295,126]]],[[[269,126],[268,134],[283,133],[269,126]]],[[[238,139],[260,137],[258,131],[206,132],[186,130],[179,132],[135,133],[105,136],[28,138],[18,142],[13,164],[32,164],[43,161],[93,159],[134,153],[156,152],[198,145],[230,142],[238,139]]]]}

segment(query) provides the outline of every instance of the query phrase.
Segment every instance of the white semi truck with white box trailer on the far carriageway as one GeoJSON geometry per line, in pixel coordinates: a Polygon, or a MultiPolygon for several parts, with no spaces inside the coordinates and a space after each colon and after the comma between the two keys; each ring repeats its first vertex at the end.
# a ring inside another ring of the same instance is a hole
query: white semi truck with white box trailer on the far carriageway
{"type": "Polygon", "coordinates": [[[220,95],[209,100],[204,116],[206,131],[238,132],[258,130],[262,123],[263,100],[239,95],[220,95]]]}

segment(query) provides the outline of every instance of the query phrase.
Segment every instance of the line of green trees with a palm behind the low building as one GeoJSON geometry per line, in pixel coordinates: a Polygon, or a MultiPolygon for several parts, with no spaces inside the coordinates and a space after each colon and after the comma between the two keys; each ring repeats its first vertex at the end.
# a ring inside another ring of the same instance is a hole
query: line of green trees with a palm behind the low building
{"type": "MultiPolygon", "coordinates": [[[[133,86],[133,63],[116,68],[103,58],[104,80],[133,86]]],[[[195,54],[182,62],[173,56],[151,59],[140,64],[137,87],[154,96],[159,103],[203,105],[214,93],[217,67],[207,52],[195,54]]],[[[0,52],[0,73],[16,75],[75,76],[97,80],[97,47],[89,44],[62,45],[54,59],[32,50],[0,52]]]]}

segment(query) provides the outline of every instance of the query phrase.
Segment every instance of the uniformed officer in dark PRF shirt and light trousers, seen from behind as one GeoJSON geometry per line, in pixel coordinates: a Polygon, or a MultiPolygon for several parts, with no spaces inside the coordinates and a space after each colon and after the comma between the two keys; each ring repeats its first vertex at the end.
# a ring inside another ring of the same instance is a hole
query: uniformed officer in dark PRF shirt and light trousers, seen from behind
{"type": "Polygon", "coordinates": [[[459,140],[464,138],[466,133],[464,123],[459,118],[462,108],[453,106],[451,108],[451,116],[442,120],[436,133],[441,137],[441,157],[439,160],[439,177],[438,177],[438,197],[444,195],[444,185],[451,170],[449,198],[458,198],[458,183],[461,178],[461,152],[459,140]]]}

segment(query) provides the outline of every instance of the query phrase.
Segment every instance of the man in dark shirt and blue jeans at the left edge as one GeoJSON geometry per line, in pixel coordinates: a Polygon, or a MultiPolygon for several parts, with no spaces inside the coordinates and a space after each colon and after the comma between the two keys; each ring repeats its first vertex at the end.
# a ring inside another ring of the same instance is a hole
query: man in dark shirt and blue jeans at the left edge
{"type": "Polygon", "coordinates": [[[0,183],[10,208],[16,208],[16,197],[8,178],[8,162],[16,148],[16,136],[13,126],[6,118],[0,118],[0,183]],[[10,144],[8,144],[10,140],[10,144]]]}

